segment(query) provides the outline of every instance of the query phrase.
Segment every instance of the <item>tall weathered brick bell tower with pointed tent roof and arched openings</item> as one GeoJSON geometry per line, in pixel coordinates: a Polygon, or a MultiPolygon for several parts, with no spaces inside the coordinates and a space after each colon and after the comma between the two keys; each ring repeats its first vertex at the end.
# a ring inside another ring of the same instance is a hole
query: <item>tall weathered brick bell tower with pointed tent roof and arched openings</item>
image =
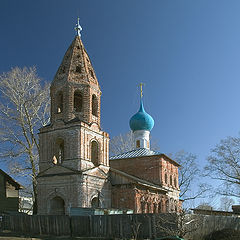
{"type": "Polygon", "coordinates": [[[51,84],[51,123],[40,129],[38,214],[110,207],[109,135],[100,127],[101,90],[81,26],[51,84]]]}

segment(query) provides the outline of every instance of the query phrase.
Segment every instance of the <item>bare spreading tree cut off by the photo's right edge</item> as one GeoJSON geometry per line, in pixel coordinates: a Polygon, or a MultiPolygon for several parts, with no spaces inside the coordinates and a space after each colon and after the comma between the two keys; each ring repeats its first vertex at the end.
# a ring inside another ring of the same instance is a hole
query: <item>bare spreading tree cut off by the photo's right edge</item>
{"type": "Polygon", "coordinates": [[[219,180],[216,192],[220,195],[240,197],[240,137],[227,137],[211,150],[206,174],[219,180]]]}

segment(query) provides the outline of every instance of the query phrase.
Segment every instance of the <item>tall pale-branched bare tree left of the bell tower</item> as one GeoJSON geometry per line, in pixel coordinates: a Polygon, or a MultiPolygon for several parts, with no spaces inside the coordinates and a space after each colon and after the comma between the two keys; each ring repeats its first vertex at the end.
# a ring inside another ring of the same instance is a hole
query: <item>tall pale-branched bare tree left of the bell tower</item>
{"type": "Polygon", "coordinates": [[[36,213],[38,129],[49,121],[49,84],[42,85],[36,68],[15,67],[0,76],[0,157],[12,173],[30,177],[36,213]]]}

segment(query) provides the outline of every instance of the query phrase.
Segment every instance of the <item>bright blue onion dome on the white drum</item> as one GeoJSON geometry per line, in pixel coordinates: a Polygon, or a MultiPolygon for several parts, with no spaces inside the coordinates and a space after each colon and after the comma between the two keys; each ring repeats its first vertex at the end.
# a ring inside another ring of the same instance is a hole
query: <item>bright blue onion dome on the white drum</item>
{"type": "Polygon", "coordinates": [[[151,131],[154,126],[153,118],[145,112],[141,99],[139,111],[134,114],[129,122],[132,131],[147,130],[151,131]]]}

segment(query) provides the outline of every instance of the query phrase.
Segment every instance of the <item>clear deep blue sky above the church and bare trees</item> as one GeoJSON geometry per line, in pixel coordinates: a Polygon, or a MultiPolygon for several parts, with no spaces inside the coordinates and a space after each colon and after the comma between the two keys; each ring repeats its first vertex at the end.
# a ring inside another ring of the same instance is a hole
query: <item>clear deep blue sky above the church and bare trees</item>
{"type": "Polygon", "coordinates": [[[79,16],[103,93],[103,129],[129,131],[144,82],[160,150],[184,149],[204,165],[220,139],[240,130],[239,13],[239,0],[1,0],[0,73],[35,65],[52,81],[79,16]]]}

